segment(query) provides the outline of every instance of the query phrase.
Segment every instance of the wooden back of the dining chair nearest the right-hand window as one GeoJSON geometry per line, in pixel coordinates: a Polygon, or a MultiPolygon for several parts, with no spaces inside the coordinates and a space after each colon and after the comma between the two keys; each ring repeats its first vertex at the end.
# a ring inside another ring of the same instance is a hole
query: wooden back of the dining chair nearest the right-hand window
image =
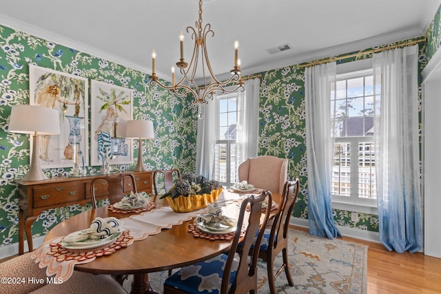
{"type": "Polygon", "coordinates": [[[298,178],[285,182],[282,200],[280,200],[278,212],[276,213],[273,225],[271,226],[268,246],[276,247],[277,244],[281,244],[281,240],[287,238],[289,220],[291,219],[294,204],[296,204],[298,188],[298,178]]]}

